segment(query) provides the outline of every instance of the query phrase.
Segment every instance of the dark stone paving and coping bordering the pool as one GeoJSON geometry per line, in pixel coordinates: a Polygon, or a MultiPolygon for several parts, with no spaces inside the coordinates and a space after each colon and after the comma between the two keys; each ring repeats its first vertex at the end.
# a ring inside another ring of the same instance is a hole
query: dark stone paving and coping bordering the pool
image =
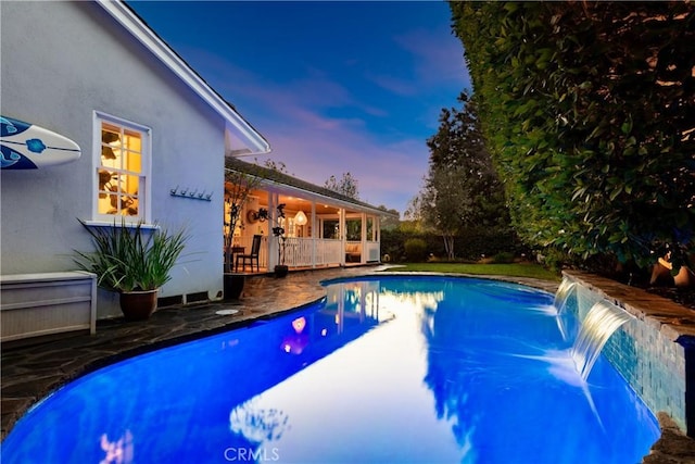
{"type": "MultiPolygon", "coordinates": [[[[122,318],[100,321],[97,334],[92,336],[83,334],[71,337],[63,336],[60,339],[35,344],[14,344],[9,349],[7,347],[9,343],[5,343],[2,347],[0,373],[2,439],[31,405],[51,391],[89,372],[143,352],[243,327],[258,318],[294,311],[326,296],[321,281],[358,276],[378,276],[382,275],[380,271],[388,267],[394,266],[372,265],[302,271],[290,273],[285,279],[250,276],[247,279],[242,299],[237,302],[162,308],[147,322],[128,323],[122,318]],[[233,309],[238,312],[233,315],[217,314],[218,311],[226,309],[233,309]]],[[[388,273],[388,275],[394,274],[422,275],[426,273],[388,273]]],[[[559,285],[557,281],[509,276],[440,273],[431,273],[430,275],[511,281],[553,293],[559,285]]],[[[610,280],[605,279],[605,283],[604,280],[592,280],[590,275],[583,274],[582,277],[585,277],[590,284],[593,281],[591,285],[605,284],[612,288],[608,285],[611,283],[610,280]]],[[[637,290],[632,287],[628,287],[628,289],[630,292],[637,290]]],[[[620,291],[623,296],[627,293],[624,289],[620,291]]],[[[660,300],[654,303],[656,305],[669,302],[661,297],[648,296],[660,300]]],[[[680,315],[668,314],[670,315],[664,317],[685,317],[680,313],[680,315]]],[[[653,447],[652,453],[645,456],[644,462],[648,464],[695,463],[695,440],[685,437],[668,415],[659,414],[658,416],[662,436],[653,447]]]]}

